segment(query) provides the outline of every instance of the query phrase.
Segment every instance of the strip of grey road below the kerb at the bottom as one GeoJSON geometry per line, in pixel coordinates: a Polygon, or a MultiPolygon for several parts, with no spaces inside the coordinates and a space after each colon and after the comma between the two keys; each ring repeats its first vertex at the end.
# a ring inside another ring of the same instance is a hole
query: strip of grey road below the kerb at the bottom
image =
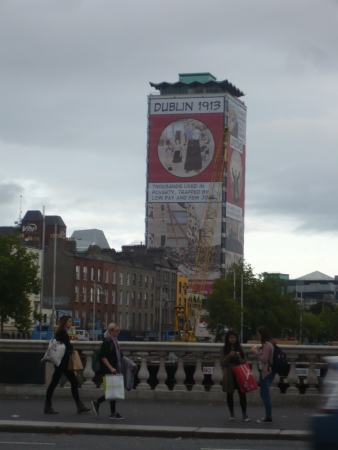
{"type": "Polygon", "coordinates": [[[4,450],[310,450],[308,442],[0,433],[4,450]]]}

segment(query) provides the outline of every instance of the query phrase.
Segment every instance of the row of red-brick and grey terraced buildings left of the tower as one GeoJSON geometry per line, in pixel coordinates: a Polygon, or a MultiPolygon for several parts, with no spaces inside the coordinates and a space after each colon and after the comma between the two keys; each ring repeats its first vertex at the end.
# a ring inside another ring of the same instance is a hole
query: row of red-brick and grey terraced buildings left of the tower
{"type": "MultiPolygon", "coordinates": [[[[0,228],[3,234],[13,231],[0,228]]],[[[43,287],[40,295],[31,296],[31,303],[46,323],[53,311],[55,321],[70,314],[94,339],[110,322],[135,339],[158,340],[161,334],[163,340],[166,331],[174,329],[175,304],[187,303],[188,279],[177,272],[164,248],[126,245],[117,252],[100,230],[76,231],[67,238],[62,218],[43,217],[40,211],[27,211],[21,236],[37,254],[43,287]]],[[[14,323],[6,325],[5,335],[22,337],[14,323]]]]}

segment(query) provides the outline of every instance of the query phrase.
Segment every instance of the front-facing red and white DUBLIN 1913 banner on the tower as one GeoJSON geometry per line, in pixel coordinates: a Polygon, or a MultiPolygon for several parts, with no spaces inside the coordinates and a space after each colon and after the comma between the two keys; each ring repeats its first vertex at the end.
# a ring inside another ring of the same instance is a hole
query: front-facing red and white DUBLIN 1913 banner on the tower
{"type": "MultiPolygon", "coordinates": [[[[165,247],[179,271],[194,276],[203,215],[222,145],[224,97],[150,98],[147,246],[165,247]]],[[[206,290],[220,276],[221,203],[206,290]]]]}

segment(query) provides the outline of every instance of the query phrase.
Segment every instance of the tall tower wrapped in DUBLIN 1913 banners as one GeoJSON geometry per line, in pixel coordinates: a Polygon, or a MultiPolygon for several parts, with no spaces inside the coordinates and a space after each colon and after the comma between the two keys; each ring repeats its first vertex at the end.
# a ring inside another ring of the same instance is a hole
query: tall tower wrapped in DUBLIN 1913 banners
{"type": "MultiPolygon", "coordinates": [[[[194,277],[214,174],[226,166],[205,281],[243,258],[246,153],[244,94],[210,73],[179,74],[176,83],[150,83],[148,96],[146,245],[165,247],[179,271],[194,277]],[[224,129],[228,127],[227,144],[224,129]]],[[[218,200],[217,200],[218,201],[218,200]]]]}

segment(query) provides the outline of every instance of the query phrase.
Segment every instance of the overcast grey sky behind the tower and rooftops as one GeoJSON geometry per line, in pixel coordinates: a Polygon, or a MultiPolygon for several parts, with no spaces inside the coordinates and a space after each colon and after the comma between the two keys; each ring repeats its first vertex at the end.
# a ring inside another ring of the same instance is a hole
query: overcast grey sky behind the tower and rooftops
{"type": "Polygon", "coordinates": [[[245,93],[245,259],[338,275],[337,0],[2,0],[0,225],[144,243],[149,82],[245,93]]]}

